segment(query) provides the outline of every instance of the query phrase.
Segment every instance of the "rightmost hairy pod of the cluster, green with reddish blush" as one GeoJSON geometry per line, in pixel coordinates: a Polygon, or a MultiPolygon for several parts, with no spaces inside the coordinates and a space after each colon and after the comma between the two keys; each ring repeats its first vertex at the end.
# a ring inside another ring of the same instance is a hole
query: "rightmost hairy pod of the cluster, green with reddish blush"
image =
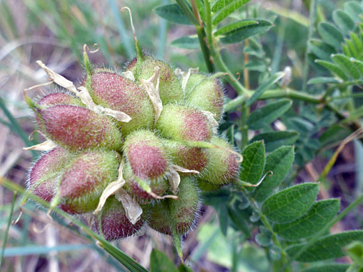
{"type": "Polygon", "coordinates": [[[219,137],[213,137],[211,142],[216,148],[207,149],[208,163],[200,172],[200,178],[218,185],[230,183],[239,172],[236,156],[230,152],[232,146],[219,137]]]}

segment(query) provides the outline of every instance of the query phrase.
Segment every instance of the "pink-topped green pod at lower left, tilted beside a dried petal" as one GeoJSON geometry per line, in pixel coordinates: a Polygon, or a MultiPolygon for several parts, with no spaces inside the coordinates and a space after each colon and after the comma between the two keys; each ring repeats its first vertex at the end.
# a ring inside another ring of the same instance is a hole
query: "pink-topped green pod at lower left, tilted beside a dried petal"
{"type": "Polygon", "coordinates": [[[103,189],[117,179],[118,167],[115,151],[81,153],[61,177],[61,209],[68,213],[94,211],[103,189]]]}

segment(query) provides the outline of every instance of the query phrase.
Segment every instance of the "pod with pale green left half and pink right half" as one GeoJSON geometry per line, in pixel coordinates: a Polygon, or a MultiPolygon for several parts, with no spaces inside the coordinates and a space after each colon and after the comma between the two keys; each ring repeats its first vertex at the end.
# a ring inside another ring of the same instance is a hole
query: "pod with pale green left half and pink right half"
{"type": "Polygon", "coordinates": [[[209,142],[212,138],[212,126],[207,116],[198,109],[182,105],[165,105],[156,129],[164,137],[177,141],[209,142]]]}

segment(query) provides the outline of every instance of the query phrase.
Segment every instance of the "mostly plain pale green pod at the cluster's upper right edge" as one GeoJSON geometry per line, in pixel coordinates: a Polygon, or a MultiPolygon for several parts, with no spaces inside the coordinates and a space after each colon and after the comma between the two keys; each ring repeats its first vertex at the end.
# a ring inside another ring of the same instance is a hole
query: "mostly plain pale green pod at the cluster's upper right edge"
{"type": "Polygon", "coordinates": [[[186,96],[186,102],[192,107],[212,112],[219,121],[223,113],[223,86],[216,78],[203,80],[186,96]]]}

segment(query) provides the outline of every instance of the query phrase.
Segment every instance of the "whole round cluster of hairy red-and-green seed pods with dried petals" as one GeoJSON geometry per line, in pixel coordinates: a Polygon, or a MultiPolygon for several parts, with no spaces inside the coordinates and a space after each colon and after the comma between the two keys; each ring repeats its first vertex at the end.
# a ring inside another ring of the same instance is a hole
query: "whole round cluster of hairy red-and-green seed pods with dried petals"
{"type": "Polygon", "coordinates": [[[31,168],[28,190],[67,213],[92,213],[105,239],[145,224],[180,239],[195,223],[200,190],[237,178],[239,154],[217,135],[215,75],[172,70],[143,53],[116,73],[92,66],[84,50],[87,75],[76,87],[38,63],[68,92],[25,96],[47,138],[34,149],[51,149],[31,168]]]}

